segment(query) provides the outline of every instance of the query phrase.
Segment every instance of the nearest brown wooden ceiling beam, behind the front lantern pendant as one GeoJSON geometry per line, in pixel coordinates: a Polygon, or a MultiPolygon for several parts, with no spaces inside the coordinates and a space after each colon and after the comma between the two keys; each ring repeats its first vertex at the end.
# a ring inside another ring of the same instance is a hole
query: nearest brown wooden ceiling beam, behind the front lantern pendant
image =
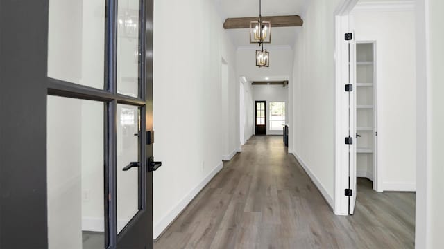
{"type": "MultiPolygon", "coordinates": [[[[251,21],[257,21],[258,17],[237,17],[237,18],[227,18],[223,23],[223,28],[250,28],[251,21]]],[[[263,21],[270,21],[271,28],[275,27],[296,27],[302,26],[304,21],[298,15],[291,16],[273,16],[273,17],[262,17],[263,21]]]]}

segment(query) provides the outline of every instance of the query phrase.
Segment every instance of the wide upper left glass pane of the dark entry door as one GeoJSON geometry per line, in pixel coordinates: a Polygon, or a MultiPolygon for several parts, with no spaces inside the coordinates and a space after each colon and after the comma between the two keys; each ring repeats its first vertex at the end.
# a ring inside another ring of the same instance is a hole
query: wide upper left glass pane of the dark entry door
{"type": "Polygon", "coordinates": [[[48,77],[103,89],[105,0],[50,0],[48,77]]]}

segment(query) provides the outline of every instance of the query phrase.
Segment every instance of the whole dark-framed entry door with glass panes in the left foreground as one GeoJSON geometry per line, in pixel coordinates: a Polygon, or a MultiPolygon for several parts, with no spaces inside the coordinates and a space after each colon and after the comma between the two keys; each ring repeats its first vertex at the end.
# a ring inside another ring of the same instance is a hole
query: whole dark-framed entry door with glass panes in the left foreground
{"type": "Polygon", "coordinates": [[[153,248],[153,0],[0,18],[0,248],[153,248]]]}

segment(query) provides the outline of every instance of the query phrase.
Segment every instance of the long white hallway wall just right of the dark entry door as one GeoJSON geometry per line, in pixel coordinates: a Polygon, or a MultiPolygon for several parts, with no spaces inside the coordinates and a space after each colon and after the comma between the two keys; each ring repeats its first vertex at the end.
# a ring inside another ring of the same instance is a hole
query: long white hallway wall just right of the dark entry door
{"type": "Polygon", "coordinates": [[[222,24],[213,1],[154,3],[153,154],[162,161],[153,178],[154,237],[219,172],[223,136],[230,137],[228,151],[240,146],[239,78],[222,24]],[[177,20],[185,28],[167,32],[177,20]],[[178,37],[187,39],[178,46],[178,37]],[[228,64],[229,134],[221,126],[222,59],[228,64]]]}

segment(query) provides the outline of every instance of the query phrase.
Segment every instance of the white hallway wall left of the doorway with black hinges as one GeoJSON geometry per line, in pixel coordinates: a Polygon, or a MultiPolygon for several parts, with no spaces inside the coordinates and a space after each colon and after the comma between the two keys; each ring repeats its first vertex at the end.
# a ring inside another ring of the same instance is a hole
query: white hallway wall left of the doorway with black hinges
{"type": "Polygon", "coordinates": [[[293,154],[334,206],[334,10],[339,0],[309,1],[294,46],[293,154]],[[319,156],[322,155],[322,156],[319,156]]]}

